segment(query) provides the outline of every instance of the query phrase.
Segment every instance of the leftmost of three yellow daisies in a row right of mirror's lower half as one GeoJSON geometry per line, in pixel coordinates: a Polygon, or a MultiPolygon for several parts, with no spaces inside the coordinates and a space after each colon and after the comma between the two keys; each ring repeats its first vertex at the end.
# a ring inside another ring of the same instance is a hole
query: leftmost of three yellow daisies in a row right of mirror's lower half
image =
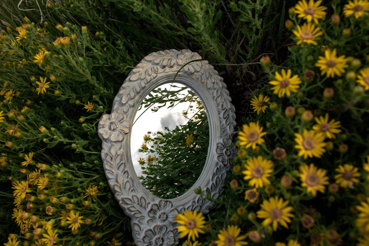
{"type": "Polygon", "coordinates": [[[245,174],[244,180],[250,180],[248,182],[250,186],[259,188],[270,184],[268,178],[273,172],[272,161],[264,159],[259,155],[257,157],[248,159],[244,167],[246,169],[242,172],[245,174]]]}

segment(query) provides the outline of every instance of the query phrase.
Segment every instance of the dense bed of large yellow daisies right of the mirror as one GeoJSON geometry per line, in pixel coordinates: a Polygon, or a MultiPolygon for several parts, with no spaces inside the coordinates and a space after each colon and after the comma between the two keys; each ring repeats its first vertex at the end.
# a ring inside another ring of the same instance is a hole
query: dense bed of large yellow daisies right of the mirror
{"type": "Polygon", "coordinates": [[[369,245],[369,2],[301,0],[296,42],[249,101],[227,190],[178,215],[186,245],[369,245]]]}

